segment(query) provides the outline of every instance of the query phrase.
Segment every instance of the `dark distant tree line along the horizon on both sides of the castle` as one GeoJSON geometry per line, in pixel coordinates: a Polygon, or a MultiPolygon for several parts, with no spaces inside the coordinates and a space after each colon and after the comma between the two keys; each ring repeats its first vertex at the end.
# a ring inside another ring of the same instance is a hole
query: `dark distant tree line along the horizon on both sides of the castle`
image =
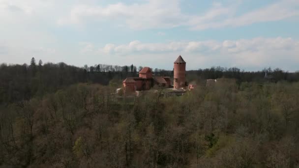
{"type": "MultiPolygon", "coordinates": [[[[29,100],[33,96],[42,96],[60,88],[77,83],[96,83],[121,87],[121,81],[127,77],[138,77],[142,69],[133,64],[128,66],[96,64],[76,67],[63,62],[45,63],[34,57],[30,65],[0,64],[0,105],[22,100],[29,100]]],[[[152,69],[156,76],[173,77],[173,70],[152,69]]],[[[257,72],[241,71],[239,68],[211,67],[207,69],[187,71],[187,81],[201,81],[205,79],[230,78],[237,82],[298,82],[299,72],[290,73],[279,68],[271,68],[257,72]],[[265,72],[271,77],[265,80],[265,72]]]]}

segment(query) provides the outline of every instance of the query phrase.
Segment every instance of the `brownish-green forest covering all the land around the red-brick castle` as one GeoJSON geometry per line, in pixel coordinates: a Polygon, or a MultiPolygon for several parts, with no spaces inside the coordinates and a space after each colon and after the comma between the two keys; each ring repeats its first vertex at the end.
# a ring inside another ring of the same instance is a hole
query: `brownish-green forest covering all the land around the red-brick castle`
{"type": "Polygon", "coordinates": [[[140,68],[1,64],[0,168],[299,167],[299,72],[211,67],[182,96],[115,94],[140,68]]]}

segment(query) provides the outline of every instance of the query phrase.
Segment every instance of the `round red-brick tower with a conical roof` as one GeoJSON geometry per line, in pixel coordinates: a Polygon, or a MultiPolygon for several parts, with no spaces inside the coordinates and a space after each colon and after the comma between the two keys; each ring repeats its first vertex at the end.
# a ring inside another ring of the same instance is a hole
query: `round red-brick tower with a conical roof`
{"type": "Polygon", "coordinates": [[[185,87],[186,62],[181,56],[174,62],[174,89],[185,87]]]}

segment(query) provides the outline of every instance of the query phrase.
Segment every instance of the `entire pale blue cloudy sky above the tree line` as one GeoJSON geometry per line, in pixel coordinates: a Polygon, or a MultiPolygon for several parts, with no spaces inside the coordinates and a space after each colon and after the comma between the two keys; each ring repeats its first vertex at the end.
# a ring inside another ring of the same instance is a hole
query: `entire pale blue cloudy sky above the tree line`
{"type": "Polygon", "coordinates": [[[299,0],[0,0],[0,63],[299,70],[299,0]]]}

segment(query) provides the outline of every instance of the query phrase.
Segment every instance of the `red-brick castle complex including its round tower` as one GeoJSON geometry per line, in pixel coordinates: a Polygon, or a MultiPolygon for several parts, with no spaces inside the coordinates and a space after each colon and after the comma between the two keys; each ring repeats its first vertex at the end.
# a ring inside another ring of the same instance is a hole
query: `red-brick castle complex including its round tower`
{"type": "MultiPolygon", "coordinates": [[[[186,62],[181,56],[174,62],[174,89],[181,89],[187,86],[186,83],[186,62]]],[[[124,93],[134,93],[135,91],[149,90],[154,85],[160,88],[170,88],[170,77],[153,76],[149,67],[144,67],[139,72],[139,77],[129,77],[122,81],[124,93]]]]}

